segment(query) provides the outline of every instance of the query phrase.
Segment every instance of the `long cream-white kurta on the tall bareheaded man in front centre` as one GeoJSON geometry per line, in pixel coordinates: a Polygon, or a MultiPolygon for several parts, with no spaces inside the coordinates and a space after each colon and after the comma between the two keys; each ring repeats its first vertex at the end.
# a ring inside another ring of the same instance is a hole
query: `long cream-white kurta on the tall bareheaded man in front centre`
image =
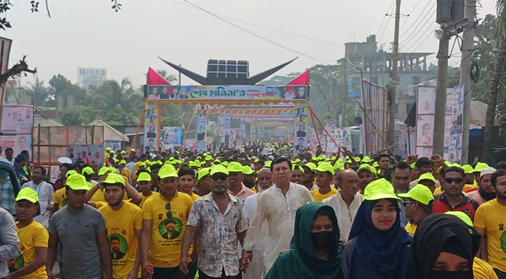
{"type": "Polygon", "coordinates": [[[295,213],[307,202],[313,202],[308,188],[291,182],[285,196],[281,193],[281,189],[274,185],[258,197],[258,205],[244,239],[244,250],[254,250],[260,237],[262,223],[265,222],[267,233],[265,274],[269,272],[279,253],[290,249],[295,227],[295,213]]]}

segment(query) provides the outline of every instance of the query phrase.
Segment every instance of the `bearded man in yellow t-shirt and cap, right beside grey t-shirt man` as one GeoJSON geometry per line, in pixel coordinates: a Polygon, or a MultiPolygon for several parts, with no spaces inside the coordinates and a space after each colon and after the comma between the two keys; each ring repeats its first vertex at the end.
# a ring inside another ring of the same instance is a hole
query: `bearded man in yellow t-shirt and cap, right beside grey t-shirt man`
{"type": "Polygon", "coordinates": [[[109,174],[101,184],[107,206],[98,210],[104,216],[111,248],[112,278],[139,278],[142,210],[123,199],[126,193],[123,176],[109,174]]]}

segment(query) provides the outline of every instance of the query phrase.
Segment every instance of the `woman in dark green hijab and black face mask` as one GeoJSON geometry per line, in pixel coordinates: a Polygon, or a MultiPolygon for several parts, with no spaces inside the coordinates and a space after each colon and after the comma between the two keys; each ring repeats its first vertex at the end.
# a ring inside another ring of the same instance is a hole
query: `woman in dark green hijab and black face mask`
{"type": "Polygon", "coordinates": [[[341,279],[341,254],[336,213],[321,202],[297,209],[290,250],[281,253],[265,279],[341,279]]]}

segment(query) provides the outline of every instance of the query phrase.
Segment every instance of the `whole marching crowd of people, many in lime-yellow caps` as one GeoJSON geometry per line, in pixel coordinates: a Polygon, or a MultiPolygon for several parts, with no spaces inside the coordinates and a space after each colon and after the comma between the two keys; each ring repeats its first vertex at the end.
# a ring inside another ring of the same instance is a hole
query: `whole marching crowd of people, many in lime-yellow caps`
{"type": "Polygon", "coordinates": [[[10,154],[0,278],[506,278],[506,162],[132,151],[10,154]]]}

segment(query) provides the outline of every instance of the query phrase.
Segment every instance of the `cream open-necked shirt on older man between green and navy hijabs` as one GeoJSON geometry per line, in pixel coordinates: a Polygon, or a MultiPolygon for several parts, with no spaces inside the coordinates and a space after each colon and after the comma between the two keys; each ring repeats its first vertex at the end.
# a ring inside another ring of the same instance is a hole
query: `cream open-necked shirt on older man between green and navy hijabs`
{"type": "Polygon", "coordinates": [[[355,220],[360,204],[362,204],[362,197],[361,194],[355,194],[349,207],[343,200],[343,197],[341,197],[341,193],[323,200],[324,204],[331,206],[336,212],[337,225],[339,226],[339,240],[344,243],[348,242],[353,220],[355,220]]]}

